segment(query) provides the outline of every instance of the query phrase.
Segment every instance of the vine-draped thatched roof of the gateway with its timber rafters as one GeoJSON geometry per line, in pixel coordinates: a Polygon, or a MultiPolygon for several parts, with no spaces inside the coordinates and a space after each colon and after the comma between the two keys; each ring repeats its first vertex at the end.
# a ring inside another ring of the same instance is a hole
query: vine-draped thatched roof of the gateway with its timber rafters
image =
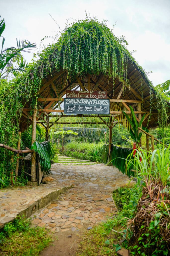
{"type": "MultiPolygon", "coordinates": [[[[37,121],[49,125],[48,115],[56,112],[63,117],[60,101],[66,90],[106,91],[110,99],[112,126],[123,122],[122,110],[129,113],[133,106],[136,118],[146,113],[144,126],[166,123],[167,103],[154,90],[143,69],[104,23],[82,20],[68,27],[56,44],[48,46],[40,59],[17,81],[30,88],[29,101],[20,118],[23,131],[32,123],[32,111],[37,106],[37,121]],[[36,95],[37,103],[35,100],[36,95]],[[53,109],[53,111],[52,111],[53,109]],[[46,116],[46,118],[44,118],[46,116]]],[[[23,89],[22,89],[23,90],[23,89]]],[[[99,116],[104,121],[104,117],[99,116]]],[[[101,120],[100,120],[101,121],[101,120]]]]}

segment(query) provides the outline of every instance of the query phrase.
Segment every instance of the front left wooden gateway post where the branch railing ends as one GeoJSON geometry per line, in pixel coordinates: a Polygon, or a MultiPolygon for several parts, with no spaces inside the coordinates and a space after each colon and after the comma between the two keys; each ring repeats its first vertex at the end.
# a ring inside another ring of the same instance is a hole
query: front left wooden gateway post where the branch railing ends
{"type": "MultiPolygon", "coordinates": [[[[36,106],[34,107],[34,113],[32,117],[32,138],[31,144],[33,144],[36,140],[36,117],[37,117],[37,110],[36,106]]],[[[36,181],[36,153],[35,151],[31,154],[31,181],[36,181]]]]}

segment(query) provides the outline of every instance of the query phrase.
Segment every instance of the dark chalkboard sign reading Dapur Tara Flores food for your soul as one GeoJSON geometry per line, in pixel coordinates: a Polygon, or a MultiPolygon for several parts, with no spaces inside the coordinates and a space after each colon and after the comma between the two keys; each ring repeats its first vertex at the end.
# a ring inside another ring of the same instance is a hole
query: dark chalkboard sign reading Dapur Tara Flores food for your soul
{"type": "Polygon", "coordinates": [[[64,99],[64,114],[110,114],[109,99],[64,99]]]}

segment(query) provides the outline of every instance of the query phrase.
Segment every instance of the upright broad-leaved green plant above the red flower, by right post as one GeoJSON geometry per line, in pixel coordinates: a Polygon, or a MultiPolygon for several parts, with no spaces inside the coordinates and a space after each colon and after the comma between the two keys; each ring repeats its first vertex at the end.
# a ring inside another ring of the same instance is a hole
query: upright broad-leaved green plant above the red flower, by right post
{"type": "MultiPolygon", "coordinates": [[[[134,140],[134,141],[136,142],[136,144],[140,144],[140,138],[141,138],[141,136],[142,136],[142,132],[139,132],[139,131],[138,131],[138,127],[141,127],[142,122],[143,122],[143,120],[144,120],[146,114],[144,114],[144,115],[142,116],[142,118],[141,118],[141,120],[140,120],[140,122],[139,122],[139,124],[138,124],[132,106],[129,106],[129,108],[130,108],[130,112],[131,112],[131,118],[129,118],[129,116],[128,116],[124,111],[122,111],[122,112],[123,112],[123,114],[126,116],[127,121],[130,123],[129,133],[130,133],[130,136],[131,136],[132,140],[134,140]]],[[[149,132],[146,127],[143,127],[143,126],[142,126],[142,129],[143,129],[144,131],[149,132]]]]}

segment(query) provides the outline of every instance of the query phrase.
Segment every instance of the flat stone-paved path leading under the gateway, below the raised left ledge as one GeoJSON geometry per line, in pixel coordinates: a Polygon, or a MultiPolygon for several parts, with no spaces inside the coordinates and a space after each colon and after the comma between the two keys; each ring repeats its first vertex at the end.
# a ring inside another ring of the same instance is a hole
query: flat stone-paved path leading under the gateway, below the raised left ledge
{"type": "Polygon", "coordinates": [[[115,215],[117,209],[112,191],[125,186],[129,180],[113,166],[103,164],[53,164],[51,170],[60,186],[73,184],[57,200],[31,216],[33,226],[45,227],[52,232],[78,231],[115,215]]]}

